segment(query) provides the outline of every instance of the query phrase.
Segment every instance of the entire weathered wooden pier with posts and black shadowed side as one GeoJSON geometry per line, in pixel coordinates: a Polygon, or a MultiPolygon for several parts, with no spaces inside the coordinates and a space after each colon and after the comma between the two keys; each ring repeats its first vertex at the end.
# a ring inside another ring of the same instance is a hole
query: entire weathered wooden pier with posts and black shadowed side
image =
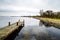
{"type": "Polygon", "coordinates": [[[8,26],[0,29],[0,40],[14,40],[14,38],[18,35],[23,26],[24,21],[18,21],[13,24],[8,22],[8,26]]]}

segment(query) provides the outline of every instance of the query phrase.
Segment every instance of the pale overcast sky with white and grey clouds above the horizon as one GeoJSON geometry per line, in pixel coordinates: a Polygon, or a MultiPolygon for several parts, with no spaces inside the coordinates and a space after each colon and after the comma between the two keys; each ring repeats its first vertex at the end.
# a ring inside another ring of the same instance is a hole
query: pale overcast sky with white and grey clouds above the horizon
{"type": "MultiPolygon", "coordinates": [[[[34,12],[35,13],[35,12],[39,12],[39,10],[41,9],[59,11],[60,0],[0,0],[0,16],[11,15],[11,13],[8,14],[6,12],[18,11],[18,12],[34,12]],[[5,13],[2,13],[2,12],[5,12],[5,13]]],[[[25,13],[24,15],[26,14],[27,13],[25,13]]]]}

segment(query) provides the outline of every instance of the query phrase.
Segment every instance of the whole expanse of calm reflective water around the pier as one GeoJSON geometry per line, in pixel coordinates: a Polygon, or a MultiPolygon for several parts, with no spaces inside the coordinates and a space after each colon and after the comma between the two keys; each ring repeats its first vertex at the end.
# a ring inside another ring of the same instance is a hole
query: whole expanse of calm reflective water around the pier
{"type": "Polygon", "coordinates": [[[25,20],[25,26],[18,33],[15,40],[60,40],[60,29],[45,27],[39,20],[22,17],[0,17],[0,27],[14,23],[18,20],[25,20]]]}

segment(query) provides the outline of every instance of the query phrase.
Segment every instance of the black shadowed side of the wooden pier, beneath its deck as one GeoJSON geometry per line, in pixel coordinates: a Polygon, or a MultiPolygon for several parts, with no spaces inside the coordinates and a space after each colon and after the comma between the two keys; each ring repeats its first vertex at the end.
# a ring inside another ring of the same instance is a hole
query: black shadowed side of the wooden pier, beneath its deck
{"type": "Polygon", "coordinates": [[[18,27],[18,29],[14,30],[12,33],[10,33],[4,40],[14,40],[16,36],[18,36],[18,33],[22,29],[22,25],[18,27]]]}

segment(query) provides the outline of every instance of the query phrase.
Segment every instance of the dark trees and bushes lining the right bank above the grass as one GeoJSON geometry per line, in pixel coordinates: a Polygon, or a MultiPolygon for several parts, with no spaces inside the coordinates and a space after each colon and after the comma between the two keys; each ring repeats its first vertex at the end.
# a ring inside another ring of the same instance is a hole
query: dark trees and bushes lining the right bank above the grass
{"type": "Polygon", "coordinates": [[[49,18],[60,18],[60,12],[53,12],[51,10],[47,10],[45,12],[42,12],[41,16],[49,18]]]}

